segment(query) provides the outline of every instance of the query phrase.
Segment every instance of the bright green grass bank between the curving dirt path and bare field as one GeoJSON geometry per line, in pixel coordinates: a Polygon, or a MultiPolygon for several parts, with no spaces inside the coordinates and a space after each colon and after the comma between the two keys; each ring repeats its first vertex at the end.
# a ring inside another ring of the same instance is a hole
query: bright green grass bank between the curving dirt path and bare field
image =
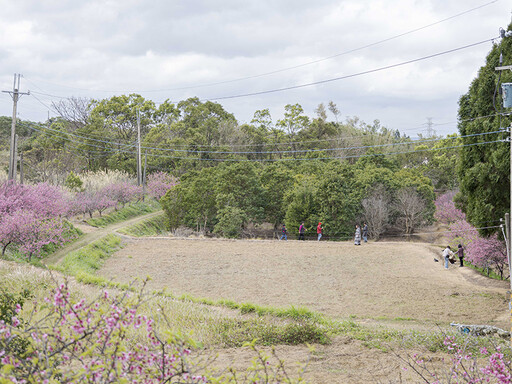
{"type": "Polygon", "coordinates": [[[120,248],[121,238],[116,235],[107,235],[77,251],[68,253],[60,264],[52,268],[72,275],[86,284],[105,285],[108,280],[95,273],[103,266],[105,260],[120,248]]]}

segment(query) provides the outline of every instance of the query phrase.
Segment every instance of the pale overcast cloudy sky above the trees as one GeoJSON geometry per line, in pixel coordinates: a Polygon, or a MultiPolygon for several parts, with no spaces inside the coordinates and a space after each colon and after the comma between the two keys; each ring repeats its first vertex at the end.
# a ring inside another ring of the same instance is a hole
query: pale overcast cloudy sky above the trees
{"type": "MultiPolygon", "coordinates": [[[[264,108],[275,122],[295,103],[313,117],[333,101],[344,118],[416,136],[427,117],[438,134],[457,131],[458,98],[510,23],[512,1],[0,0],[0,9],[0,88],[23,75],[20,90],[32,95],[18,104],[22,119],[45,121],[52,101],[71,96],[197,96],[241,123],[264,108]],[[256,95],[236,97],[247,94],[256,95]]],[[[6,93],[0,115],[12,115],[6,93]]]]}

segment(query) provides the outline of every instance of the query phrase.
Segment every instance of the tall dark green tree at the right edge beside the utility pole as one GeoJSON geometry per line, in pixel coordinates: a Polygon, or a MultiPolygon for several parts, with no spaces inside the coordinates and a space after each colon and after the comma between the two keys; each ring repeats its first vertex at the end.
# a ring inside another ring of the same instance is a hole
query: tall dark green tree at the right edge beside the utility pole
{"type": "MultiPolygon", "coordinates": [[[[456,199],[468,221],[475,227],[496,223],[510,211],[509,144],[495,142],[478,145],[504,138],[501,133],[485,133],[509,126],[511,121],[510,117],[496,115],[496,109],[501,108],[502,102],[497,89],[500,83],[512,81],[510,72],[505,71],[500,75],[494,69],[499,65],[500,54],[503,54],[504,64],[512,64],[511,38],[504,38],[499,44],[493,45],[469,91],[459,100],[461,136],[478,136],[462,138],[464,147],[460,150],[457,170],[460,193],[456,199]],[[482,118],[489,115],[492,116],[482,118]]],[[[490,235],[495,231],[495,228],[484,229],[481,233],[490,235]]]]}

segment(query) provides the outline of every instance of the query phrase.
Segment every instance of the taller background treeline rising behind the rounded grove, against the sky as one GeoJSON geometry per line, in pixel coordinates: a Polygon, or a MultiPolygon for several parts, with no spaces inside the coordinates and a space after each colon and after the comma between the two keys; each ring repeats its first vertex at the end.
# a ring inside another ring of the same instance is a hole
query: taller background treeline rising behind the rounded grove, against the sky
{"type": "MultiPolygon", "coordinates": [[[[166,171],[180,177],[240,160],[296,160],[304,167],[311,159],[354,164],[361,156],[397,153],[391,157],[399,167],[419,169],[436,189],[456,184],[456,151],[442,148],[456,145],[458,139],[413,143],[378,120],[371,125],[358,118],[342,122],[332,102],[327,108],[320,104],[315,118],[307,117],[300,105],[289,104],[282,119],[274,122],[268,110],[259,110],[249,124],[238,123],[220,104],[197,98],[156,106],[132,94],[100,101],[70,99],[54,104],[54,109],[61,117],[45,124],[17,125],[25,174],[34,182],[61,184],[71,171],[116,169],[135,174],[139,111],[142,161],[148,173],[166,171]]],[[[3,142],[9,135],[10,118],[3,117],[3,142]]]]}

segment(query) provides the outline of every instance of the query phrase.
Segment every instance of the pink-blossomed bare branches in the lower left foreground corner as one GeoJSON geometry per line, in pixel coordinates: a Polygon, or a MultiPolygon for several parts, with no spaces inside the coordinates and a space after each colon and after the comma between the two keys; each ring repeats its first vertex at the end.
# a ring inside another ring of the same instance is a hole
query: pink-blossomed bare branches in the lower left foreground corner
{"type": "MultiPolygon", "coordinates": [[[[13,383],[205,383],[193,375],[189,341],[162,334],[139,313],[142,295],[73,302],[61,284],[39,311],[38,322],[20,327],[0,323],[0,379],[13,383]],[[16,353],[16,340],[28,340],[28,353],[16,353]]],[[[2,381],[2,380],[0,380],[2,381]]]]}

